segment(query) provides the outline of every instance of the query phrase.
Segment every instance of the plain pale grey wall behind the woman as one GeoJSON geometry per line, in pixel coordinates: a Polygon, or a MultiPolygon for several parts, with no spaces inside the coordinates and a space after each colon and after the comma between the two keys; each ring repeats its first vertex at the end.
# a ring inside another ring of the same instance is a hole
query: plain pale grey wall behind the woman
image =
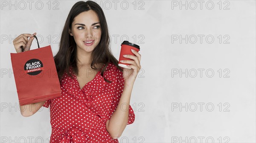
{"type": "MultiPolygon", "coordinates": [[[[10,53],[16,53],[12,41],[20,34],[37,32],[39,45],[51,45],[55,55],[64,22],[77,1],[32,1],[31,6],[23,2],[1,1],[1,142],[49,142],[49,109],[42,107],[28,118],[20,115],[11,73],[10,53]]],[[[119,142],[210,143],[213,139],[215,143],[255,143],[255,0],[183,0],[182,4],[186,2],[187,9],[185,5],[180,8],[180,1],[171,0],[97,1],[108,22],[116,59],[126,40],[121,36],[128,36],[129,42],[141,48],[142,69],[130,102],[135,121],[126,126],[119,142]],[[119,35],[116,41],[114,35],[119,35]],[[176,35],[183,40],[175,40],[176,35]],[[198,35],[204,35],[201,42],[198,35]],[[202,69],[201,76],[198,69],[202,69]]]]}

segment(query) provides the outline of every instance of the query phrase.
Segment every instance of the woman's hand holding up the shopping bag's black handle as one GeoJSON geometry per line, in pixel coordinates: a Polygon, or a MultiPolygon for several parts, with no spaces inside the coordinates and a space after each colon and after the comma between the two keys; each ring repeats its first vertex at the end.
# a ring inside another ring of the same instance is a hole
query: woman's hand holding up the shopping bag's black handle
{"type": "Polygon", "coordinates": [[[32,35],[31,34],[20,34],[19,36],[17,36],[17,38],[15,38],[13,40],[13,45],[14,45],[14,48],[17,53],[22,52],[22,48],[24,49],[24,51],[30,50],[32,41],[33,41],[33,39],[35,39],[35,37],[33,35],[36,35],[36,32],[32,35]],[[30,38],[28,39],[28,37],[30,37],[30,38]]]}

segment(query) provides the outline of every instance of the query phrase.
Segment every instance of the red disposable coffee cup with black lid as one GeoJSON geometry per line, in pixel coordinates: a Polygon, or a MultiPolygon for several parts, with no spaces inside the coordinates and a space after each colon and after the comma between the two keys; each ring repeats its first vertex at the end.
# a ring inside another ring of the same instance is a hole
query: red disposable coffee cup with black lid
{"type": "Polygon", "coordinates": [[[133,59],[125,58],[123,56],[123,55],[133,55],[133,56],[135,56],[134,53],[132,53],[131,49],[136,50],[137,52],[139,52],[140,46],[138,46],[136,44],[133,44],[133,43],[130,43],[128,41],[122,42],[120,56],[119,56],[119,62],[118,62],[118,65],[120,67],[125,67],[125,68],[128,68],[128,69],[131,69],[131,67],[127,67],[127,65],[130,65],[130,64],[120,62],[121,60],[133,60],[133,59]]]}

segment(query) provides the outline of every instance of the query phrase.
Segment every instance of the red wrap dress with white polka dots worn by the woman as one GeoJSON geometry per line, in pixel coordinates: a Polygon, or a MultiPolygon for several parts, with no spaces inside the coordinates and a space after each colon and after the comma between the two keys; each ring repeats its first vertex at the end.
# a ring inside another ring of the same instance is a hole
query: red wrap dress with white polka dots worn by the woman
{"type": "MultiPolygon", "coordinates": [[[[50,143],[119,143],[112,139],[106,129],[106,121],[115,111],[124,88],[124,78],[113,63],[103,73],[100,71],[82,90],[76,75],[70,68],[73,79],[64,73],[61,79],[61,97],[47,100],[50,106],[52,133],[50,143]]],[[[129,105],[128,123],[135,120],[129,105]]]]}

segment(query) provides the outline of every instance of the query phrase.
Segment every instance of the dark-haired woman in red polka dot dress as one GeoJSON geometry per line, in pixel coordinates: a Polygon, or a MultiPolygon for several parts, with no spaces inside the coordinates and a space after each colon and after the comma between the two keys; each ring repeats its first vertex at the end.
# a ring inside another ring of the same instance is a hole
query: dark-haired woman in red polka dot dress
{"type": "MultiPolygon", "coordinates": [[[[13,42],[17,53],[22,46],[24,51],[30,50],[33,39],[31,34],[18,36],[13,42]]],[[[126,125],[134,122],[130,98],[141,55],[132,51],[135,56],[127,55],[131,60],[123,62],[131,64],[131,69],[119,67],[109,43],[102,8],[90,0],[77,2],[68,14],[54,56],[61,97],[20,106],[25,117],[41,106],[51,106],[50,143],[118,143],[126,125]],[[26,110],[28,106],[32,111],[26,110]]]]}

